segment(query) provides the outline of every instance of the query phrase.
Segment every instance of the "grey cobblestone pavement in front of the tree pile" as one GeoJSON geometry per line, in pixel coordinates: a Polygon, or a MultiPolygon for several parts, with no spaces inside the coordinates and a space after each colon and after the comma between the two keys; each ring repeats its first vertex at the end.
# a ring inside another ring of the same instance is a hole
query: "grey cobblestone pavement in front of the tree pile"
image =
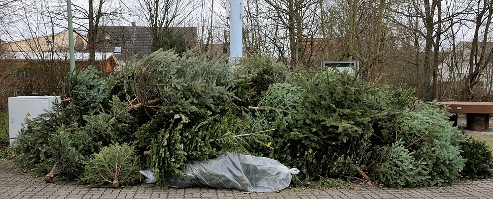
{"type": "Polygon", "coordinates": [[[460,181],[447,187],[389,189],[355,185],[354,189],[284,189],[273,193],[246,193],[239,190],[161,186],[127,188],[86,188],[55,178],[45,183],[42,177],[15,173],[0,160],[0,199],[493,199],[493,179],[460,181]]]}

